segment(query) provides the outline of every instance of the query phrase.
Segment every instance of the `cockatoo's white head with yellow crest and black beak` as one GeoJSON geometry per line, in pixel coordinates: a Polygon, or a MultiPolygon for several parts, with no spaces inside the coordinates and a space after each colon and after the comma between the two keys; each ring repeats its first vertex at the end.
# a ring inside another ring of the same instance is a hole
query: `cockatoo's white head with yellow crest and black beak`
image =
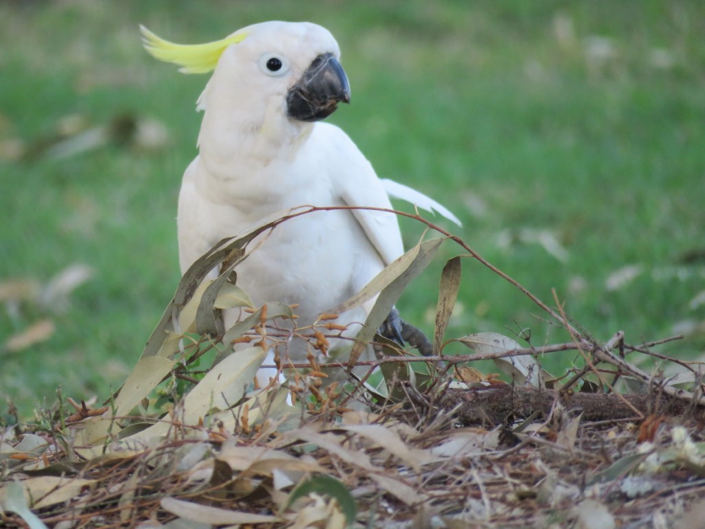
{"type": "Polygon", "coordinates": [[[338,43],[319,25],[265,22],[195,45],[173,44],[141,29],[147,51],[157,59],[179,64],[184,73],[214,71],[200,108],[246,113],[253,128],[262,126],[254,116],[265,120],[273,106],[291,120],[318,121],[339,102],[350,102],[338,43]]]}

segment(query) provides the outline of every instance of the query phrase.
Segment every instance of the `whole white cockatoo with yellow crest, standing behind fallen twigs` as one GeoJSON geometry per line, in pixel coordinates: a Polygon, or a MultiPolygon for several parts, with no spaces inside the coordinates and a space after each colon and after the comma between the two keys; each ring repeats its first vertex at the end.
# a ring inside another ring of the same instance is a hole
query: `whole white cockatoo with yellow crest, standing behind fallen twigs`
{"type": "MultiPolygon", "coordinates": [[[[146,28],[142,34],[157,59],[184,73],[213,71],[197,102],[204,112],[199,154],[178,200],[182,272],[221,239],[301,205],[391,208],[390,193],[457,222],[421,193],[381,181],[343,130],[320,121],[350,101],[338,43],[325,28],[266,22],[196,45],[167,42],[146,28]]],[[[238,265],[238,285],[255,305],[298,304],[301,327],[360,291],[402,253],[394,214],[313,212],[278,226],[238,265]]],[[[355,334],[355,322],[364,322],[371,307],[345,312],[338,323],[355,334]]],[[[287,352],[300,360],[307,347],[293,341],[287,352]]]]}

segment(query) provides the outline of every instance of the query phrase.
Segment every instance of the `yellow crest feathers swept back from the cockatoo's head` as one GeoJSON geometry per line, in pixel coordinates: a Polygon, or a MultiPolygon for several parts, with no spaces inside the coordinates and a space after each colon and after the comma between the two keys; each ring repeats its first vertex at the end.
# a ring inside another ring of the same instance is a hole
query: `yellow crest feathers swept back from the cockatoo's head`
{"type": "Polygon", "coordinates": [[[223,51],[231,44],[242,42],[247,37],[246,29],[205,44],[175,44],[154,35],[145,26],[140,25],[142,44],[149,54],[160,61],[178,64],[181,66],[179,71],[183,73],[212,72],[223,51]]]}

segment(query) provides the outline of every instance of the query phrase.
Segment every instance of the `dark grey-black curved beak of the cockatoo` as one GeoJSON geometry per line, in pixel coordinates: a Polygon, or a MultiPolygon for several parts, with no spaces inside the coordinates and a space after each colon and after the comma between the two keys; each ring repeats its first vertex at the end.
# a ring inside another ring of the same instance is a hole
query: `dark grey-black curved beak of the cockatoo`
{"type": "Polygon", "coordinates": [[[319,121],[333,114],[339,102],[350,103],[350,85],[333,54],[319,55],[286,95],[290,118],[319,121]]]}

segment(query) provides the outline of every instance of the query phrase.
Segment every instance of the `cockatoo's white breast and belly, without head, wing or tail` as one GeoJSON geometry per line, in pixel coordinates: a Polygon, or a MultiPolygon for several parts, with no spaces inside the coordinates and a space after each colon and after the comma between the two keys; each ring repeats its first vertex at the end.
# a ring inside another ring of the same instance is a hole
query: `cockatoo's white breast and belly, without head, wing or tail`
{"type": "MultiPolygon", "coordinates": [[[[302,142],[281,154],[267,164],[256,157],[232,157],[219,165],[218,174],[204,154],[193,162],[179,202],[179,239],[189,241],[181,251],[182,268],[210,245],[277,212],[302,205],[345,205],[331,171],[335,166],[330,157],[336,153],[325,142],[302,142]],[[202,241],[199,248],[195,241],[202,241]]],[[[352,212],[312,212],[269,233],[238,266],[238,284],[255,304],[298,303],[298,324],[308,324],[353,296],[383,267],[352,212]]],[[[357,320],[363,316],[350,315],[357,320]]]]}

